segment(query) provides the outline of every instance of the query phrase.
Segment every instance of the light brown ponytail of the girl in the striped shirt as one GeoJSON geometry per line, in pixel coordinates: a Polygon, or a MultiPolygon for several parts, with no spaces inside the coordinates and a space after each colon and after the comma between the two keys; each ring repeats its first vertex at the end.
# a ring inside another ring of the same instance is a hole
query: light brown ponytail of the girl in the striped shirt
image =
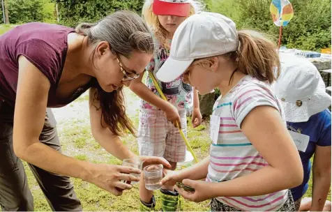
{"type": "Polygon", "coordinates": [[[257,31],[239,31],[235,61],[238,69],[260,81],[272,84],[280,75],[278,47],[257,31]]]}

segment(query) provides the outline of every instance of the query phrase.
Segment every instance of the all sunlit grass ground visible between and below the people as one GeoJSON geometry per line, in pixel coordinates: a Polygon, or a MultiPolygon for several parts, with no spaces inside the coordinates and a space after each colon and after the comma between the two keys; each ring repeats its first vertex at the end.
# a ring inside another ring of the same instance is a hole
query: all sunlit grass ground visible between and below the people
{"type": "MultiPolygon", "coordinates": [[[[126,95],[130,94],[127,107],[133,107],[137,104],[135,101],[136,96],[131,92],[125,92],[126,95]]],[[[84,98],[87,100],[87,98],[84,98]]],[[[76,103],[81,103],[82,98],[77,99],[72,105],[75,107],[76,103]]],[[[130,115],[135,126],[138,124],[138,113],[135,112],[130,115]]],[[[198,128],[192,128],[190,119],[188,119],[188,141],[193,147],[193,151],[197,154],[199,160],[202,160],[209,154],[209,145],[211,144],[208,132],[208,123],[203,123],[198,128]]],[[[63,153],[67,156],[77,158],[78,160],[85,160],[94,163],[108,163],[121,165],[121,161],[114,156],[107,153],[101,146],[93,139],[91,129],[89,126],[89,114],[86,114],[84,119],[71,119],[70,121],[58,123],[59,138],[62,144],[63,153]]],[[[123,143],[131,150],[137,153],[137,142],[133,135],[128,135],[122,138],[123,143]]],[[[29,188],[34,197],[34,204],[36,211],[50,211],[43,192],[40,190],[36,179],[26,167],[29,188]]],[[[96,185],[86,183],[80,179],[71,179],[74,184],[77,197],[80,198],[84,211],[137,211],[139,209],[139,195],[138,186],[123,193],[121,197],[114,197],[109,192],[98,188],[96,185]]],[[[312,180],[310,179],[310,188],[305,194],[306,197],[311,195],[312,180]]],[[[155,194],[157,200],[156,209],[160,209],[160,192],[155,194]]],[[[331,200],[331,193],[328,197],[331,200]]],[[[183,201],[183,211],[209,211],[209,202],[202,202],[196,204],[194,202],[183,201]]]]}

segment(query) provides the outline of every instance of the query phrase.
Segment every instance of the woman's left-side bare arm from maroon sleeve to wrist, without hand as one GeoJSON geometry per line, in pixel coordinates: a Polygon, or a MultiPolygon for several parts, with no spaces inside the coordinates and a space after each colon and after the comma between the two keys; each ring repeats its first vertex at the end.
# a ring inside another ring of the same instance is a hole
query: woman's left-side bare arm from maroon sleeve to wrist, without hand
{"type": "Polygon", "coordinates": [[[13,146],[16,155],[49,172],[85,179],[87,162],[64,156],[39,142],[45,122],[50,81],[24,56],[19,59],[19,77],[14,115],[13,146]]]}

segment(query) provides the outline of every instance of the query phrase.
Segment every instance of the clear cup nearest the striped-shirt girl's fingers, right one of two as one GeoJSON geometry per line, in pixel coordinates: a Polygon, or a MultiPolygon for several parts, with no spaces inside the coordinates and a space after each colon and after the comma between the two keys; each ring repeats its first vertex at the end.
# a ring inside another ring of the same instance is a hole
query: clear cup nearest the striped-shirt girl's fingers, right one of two
{"type": "Polygon", "coordinates": [[[145,188],[147,190],[161,188],[161,179],[163,179],[163,165],[149,165],[144,168],[145,188]]]}

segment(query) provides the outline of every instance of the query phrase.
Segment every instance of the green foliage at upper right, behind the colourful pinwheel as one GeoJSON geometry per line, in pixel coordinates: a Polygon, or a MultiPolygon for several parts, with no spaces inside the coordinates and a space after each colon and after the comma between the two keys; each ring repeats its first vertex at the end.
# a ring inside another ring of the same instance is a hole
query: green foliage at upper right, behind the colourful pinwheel
{"type": "MultiPolygon", "coordinates": [[[[282,29],[282,45],[320,52],[331,47],[331,0],[290,0],[294,17],[282,29]]],[[[270,14],[271,0],[210,0],[209,8],[230,17],[238,29],[255,29],[277,40],[279,27],[270,14]]]]}

